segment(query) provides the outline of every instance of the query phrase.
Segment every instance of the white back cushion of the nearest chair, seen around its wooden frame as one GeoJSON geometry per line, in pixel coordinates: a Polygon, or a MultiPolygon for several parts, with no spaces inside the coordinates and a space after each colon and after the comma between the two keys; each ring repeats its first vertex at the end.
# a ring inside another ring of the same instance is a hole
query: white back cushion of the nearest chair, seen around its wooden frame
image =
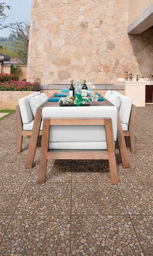
{"type": "MultiPolygon", "coordinates": [[[[116,107],[106,107],[106,106],[105,107],[100,107],[100,106],[43,107],[42,117],[43,118],[44,117],[55,117],[55,118],[56,117],[58,118],[110,117],[112,118],[114,141],[116,141],[117,139],[117,108],[116,107]]],[[[60,146],[63,144],[53,144],[53,143],[80,143],[79,149],[82,149],[82,145],[86,142],[91,142],[91,143],[106,142],[106,134],[105,134],[104,126],[95,126],[95,125],[93,126],[51,126],[51,133],[49,137],[49,143],[51,144],[49,144],[50,145],[49,147],[55,147],[55,145],[58,146],[56,149],[59,149],[59,147],[63,147],[63,146],[60,146]]],[[[104,143],[104,145],[106,145],[106,143],[104,143]]],[[[104,147],[104,145],[102,146],[102,143],[101,143],[100,147],[104,147]]],[[[84,147],[86,147],[86,145],[84,147]]],[[[75,149],[75,146],[74,146],[74,149],[75,149]]]]}

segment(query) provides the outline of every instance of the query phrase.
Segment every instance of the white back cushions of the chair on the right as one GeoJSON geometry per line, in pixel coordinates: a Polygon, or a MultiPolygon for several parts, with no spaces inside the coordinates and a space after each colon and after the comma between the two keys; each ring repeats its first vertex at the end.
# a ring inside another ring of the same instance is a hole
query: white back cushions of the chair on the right
{"type": "MultiPolygon", "coordinates": [[[[121,122],[123,124],[128,124],[130,119],[130,113],[132,108],[132,98],[129,98],[127,96],[124,96],[123,94],[120,94],[117,91],[108,91],[104,95],[104,98],[107,98],[107,100],[110,100],[111,102],[111,95],[119,96],[121,98],[121,105],[119,107],[119,116],[121,119],[121,122]]],[[[112,102],[113,104],[113,102],[112,102]]]]}

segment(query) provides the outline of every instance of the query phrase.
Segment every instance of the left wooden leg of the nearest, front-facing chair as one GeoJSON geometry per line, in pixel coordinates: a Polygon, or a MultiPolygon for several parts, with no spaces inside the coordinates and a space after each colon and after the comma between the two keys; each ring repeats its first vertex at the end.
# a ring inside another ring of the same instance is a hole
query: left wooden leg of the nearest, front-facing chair
{"type": "Polygon", "coordinates": [[[50,119],[43,119],[43,133],[41,139],[40,167],[38,171],[38,184],[45,183],[47,168],[47,152],[49,147],[50,119]]]}

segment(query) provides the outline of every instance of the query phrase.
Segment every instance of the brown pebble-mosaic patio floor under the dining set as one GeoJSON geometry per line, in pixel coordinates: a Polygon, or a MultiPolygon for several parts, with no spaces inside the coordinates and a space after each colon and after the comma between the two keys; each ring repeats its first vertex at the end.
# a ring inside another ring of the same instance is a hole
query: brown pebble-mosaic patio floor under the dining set
{"type": "Polygon", "coordinates": [[[15,153],[16,115],[0,122],[0,255],[153,255],[153,106],[137,107],[137,154],[111,185],[106,161],[55,160],[47,182],[15,153]]]}

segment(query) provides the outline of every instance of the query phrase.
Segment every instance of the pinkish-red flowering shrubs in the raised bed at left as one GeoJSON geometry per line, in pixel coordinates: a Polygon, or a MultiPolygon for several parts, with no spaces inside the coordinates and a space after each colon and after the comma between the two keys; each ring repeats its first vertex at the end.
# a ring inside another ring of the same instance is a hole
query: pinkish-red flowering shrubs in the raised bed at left
{"type": "Polygon", "coordinates": [[[0,73],[0,91],[35,91],[36,85],[38,83],[20,81],[16,75],[0,73]]]}

